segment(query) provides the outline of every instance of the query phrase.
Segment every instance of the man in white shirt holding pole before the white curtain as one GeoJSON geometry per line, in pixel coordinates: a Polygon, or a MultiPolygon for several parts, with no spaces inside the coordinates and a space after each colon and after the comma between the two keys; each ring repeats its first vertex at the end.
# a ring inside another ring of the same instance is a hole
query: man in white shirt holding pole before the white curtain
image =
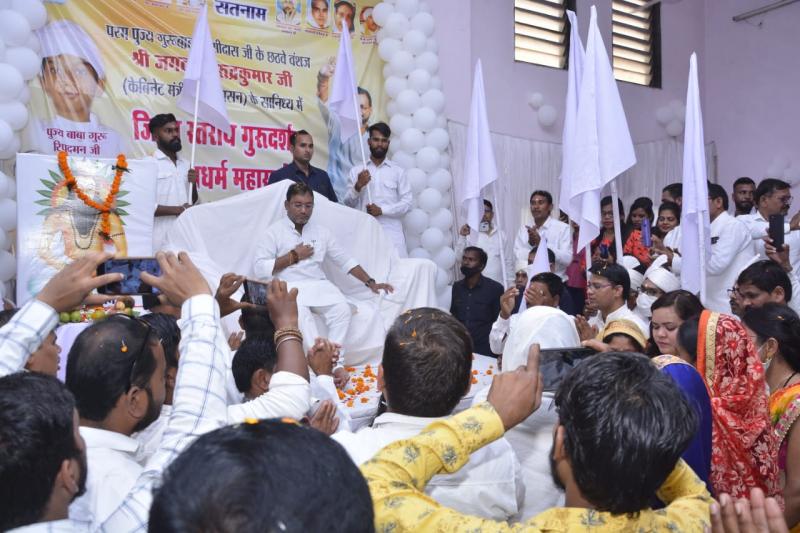
{"type": "Polygon", "coordinates": [[[528,253],[539,245],[542,237],[556,254],[555,274],[566,279],[567,266],[572,262],[572,231],[569,225],[550,216],[553,196],[547,191],[533,191],[530,199],[533,226],[523,224],[514,240],[514,268],[528,264],[528,253]]]}

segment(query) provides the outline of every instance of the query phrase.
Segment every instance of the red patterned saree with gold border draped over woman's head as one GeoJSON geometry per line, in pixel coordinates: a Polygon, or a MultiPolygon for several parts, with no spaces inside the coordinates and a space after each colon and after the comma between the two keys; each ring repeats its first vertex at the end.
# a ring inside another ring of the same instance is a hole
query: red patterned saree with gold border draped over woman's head
{"type": "Polygon", "coordinates": [[[744,326],[731,316],[703,311],[696,366],[711,396],[714,493],[747,498],[759,487],[768,496],[779,496],[778,443],[764,367],[744,326]]]}

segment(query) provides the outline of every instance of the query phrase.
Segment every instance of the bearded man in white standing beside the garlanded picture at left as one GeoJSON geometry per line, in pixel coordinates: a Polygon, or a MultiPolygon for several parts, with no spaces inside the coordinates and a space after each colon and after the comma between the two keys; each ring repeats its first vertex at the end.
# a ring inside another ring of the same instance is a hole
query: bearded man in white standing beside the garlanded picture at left
{"type": "Polygon", "coordinates": [[[178,157],[181,134],[172,113],[162,113],[150,119],[150,135],[158,148],[153,159],[158,165],[156,180],[156,212],[153,223],[153,251],[161,250],[167,232],[178,216],[197,202],[197,172],[189,162],[178,157]],[[188,191],[191,184],[191,194],[188,191]]]}

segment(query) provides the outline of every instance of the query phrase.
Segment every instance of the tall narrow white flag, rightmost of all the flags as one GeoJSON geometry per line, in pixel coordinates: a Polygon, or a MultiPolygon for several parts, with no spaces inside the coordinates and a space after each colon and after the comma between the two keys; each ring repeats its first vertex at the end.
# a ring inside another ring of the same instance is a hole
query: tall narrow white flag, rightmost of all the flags
{"type": "Polygon", "coordinates": [[[708,213],[706,150],[703,144],[703,112],[697,83],[697,54],[689,59],[686,89],[686,130],[683,138],[683,207],[681,209],[681,287],[706,297],[706,263],[711,254],[708,213]]]}

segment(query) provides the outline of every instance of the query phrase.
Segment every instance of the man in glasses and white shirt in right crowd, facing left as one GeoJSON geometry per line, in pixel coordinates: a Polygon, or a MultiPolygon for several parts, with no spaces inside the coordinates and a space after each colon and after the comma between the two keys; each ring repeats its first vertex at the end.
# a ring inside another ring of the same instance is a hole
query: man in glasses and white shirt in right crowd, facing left
{"type": "MultiPolygon", "coordinates": [[[[631,280],[625,267],[596,263],[589,269],[589,273],[591,278],[586,286],[587,301],[598,310],[597,314],[588,320],[588,326],[594,330],[594,335],[602,331],[612,320],[624,318],[639,326],[645,338],[650,337],[648,324],[628,307],[631,280]]],[[[585,322],[581,318],[576,318],[581,340],[587,340],[589,330],[582,327],[585,322]]],[[[593,338],[594,335],[588,338],[593,338]]]]}

